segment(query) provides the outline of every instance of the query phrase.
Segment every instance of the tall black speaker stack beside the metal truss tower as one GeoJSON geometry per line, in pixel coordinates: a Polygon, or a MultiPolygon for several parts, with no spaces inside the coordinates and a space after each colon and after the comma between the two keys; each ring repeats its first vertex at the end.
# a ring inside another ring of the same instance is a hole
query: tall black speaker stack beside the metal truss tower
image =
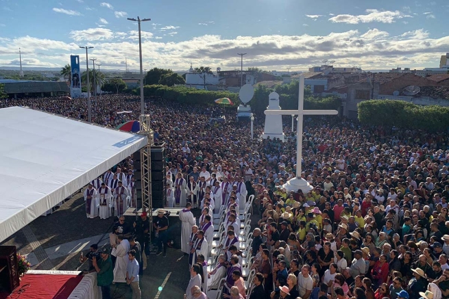
{"type": "Polygon", "coordinates": [[[156,143],[151,146],[151,195],[153,208],[167,207],[167,194],[165,193],[165,143],[156,143]]]}

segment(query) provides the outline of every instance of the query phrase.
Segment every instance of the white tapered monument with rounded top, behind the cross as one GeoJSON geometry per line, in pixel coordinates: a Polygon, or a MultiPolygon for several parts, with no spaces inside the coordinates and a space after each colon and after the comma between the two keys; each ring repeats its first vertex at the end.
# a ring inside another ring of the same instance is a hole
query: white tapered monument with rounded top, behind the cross
{"type": "Polygon", "coordinates": [[[279,94],[271,92],[268,99],[268,107],[265,110],[265,128],[263,129],[262,138],[279,138],[284,141],[285,135],[282,132],[282,112],[279,106],[279,94]]]}

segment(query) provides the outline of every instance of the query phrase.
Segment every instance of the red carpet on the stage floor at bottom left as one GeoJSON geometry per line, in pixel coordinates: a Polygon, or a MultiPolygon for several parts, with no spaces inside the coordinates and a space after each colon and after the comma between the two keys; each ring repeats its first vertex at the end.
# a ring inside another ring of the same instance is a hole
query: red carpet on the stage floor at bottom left
{"type": "Polygon", "coordinates": [[[0,299],[66,299],[83,276],[25,274],[10,296],[0,293],[0,299]]]}

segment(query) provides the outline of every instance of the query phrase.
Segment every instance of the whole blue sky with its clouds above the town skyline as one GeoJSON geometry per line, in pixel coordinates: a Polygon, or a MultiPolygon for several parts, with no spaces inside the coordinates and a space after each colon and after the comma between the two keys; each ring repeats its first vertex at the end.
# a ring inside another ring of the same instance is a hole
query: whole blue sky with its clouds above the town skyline
{"type": "Polygon", "coordinates": [[[438,67],[449,52],[447,0],[0,0],[0,66],[58,67],[69,55],[102,68],[138,68],[142,23],[144,68],[304,70],[335,66],[438,67]]]}

